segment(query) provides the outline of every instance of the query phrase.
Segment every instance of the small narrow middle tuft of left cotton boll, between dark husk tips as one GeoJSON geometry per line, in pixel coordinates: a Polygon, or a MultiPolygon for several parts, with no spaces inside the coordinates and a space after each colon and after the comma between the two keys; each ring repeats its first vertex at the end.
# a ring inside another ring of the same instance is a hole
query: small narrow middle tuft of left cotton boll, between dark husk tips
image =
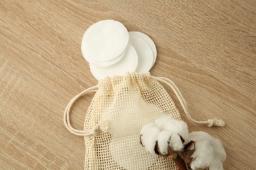
{"type": "Polygon", "coordinates": [[[172,135],[171,131],[166,131],[166,130],[160,131],[158,135],[158,151],[163,156],[169,154],[168,141],[171,135],[172,135]]]}

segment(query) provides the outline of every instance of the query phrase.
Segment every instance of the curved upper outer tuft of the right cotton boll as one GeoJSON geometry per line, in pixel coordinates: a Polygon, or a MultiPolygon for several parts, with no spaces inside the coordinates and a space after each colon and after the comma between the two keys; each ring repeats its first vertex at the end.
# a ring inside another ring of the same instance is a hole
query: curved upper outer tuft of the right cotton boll
{"type": "Polygon", "coordinates": [[[223,144],[221,144],[221,141],[219,139],[216,139],[215,137],[212,137],[208,133],[205,133],[204,131],[192,131],[189,133],[189,138],[191,141],[202,141],[207,140],[213,147],[215,151],[215,156],[221,160],[223,163],[226,160],[226,152],[224,150],[223,144]]]}

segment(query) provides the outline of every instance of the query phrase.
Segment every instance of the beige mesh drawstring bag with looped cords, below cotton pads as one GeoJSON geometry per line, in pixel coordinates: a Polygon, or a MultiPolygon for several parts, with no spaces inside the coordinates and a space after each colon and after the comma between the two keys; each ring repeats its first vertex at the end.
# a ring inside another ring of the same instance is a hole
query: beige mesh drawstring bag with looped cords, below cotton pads
{"type": "MultiPolygon", "coordinates": [[[[85,169],[177,169],[170,158],[161,158],[140,145],[140,129],[163,114],[181,119],[179,110],[160,82],[169,85],[188,114],[186,103],[173,82],[150,73],[107,77],[98,86],[76,95],[64,112],[68,130],[85,139],[85,169]],[[84,130],[70,124],[70,109],[81,95],[95,93],[85,116],[84,130]]],[[[222,120],[198,122],[223,126],[222,120]]]]}

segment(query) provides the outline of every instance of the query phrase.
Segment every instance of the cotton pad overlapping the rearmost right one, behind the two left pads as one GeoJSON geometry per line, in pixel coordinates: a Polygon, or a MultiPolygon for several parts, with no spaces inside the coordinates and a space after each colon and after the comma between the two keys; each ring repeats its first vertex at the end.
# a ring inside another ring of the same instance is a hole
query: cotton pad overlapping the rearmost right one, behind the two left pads
{"type": "Polygon", "coordinates": [[[147,73],[154,64],[154,57],[150,46],[146,41],[134,35],[129,36],[129,42],[134,46],[138,54],[138,66],[136,71],[139,73],[147,73]]]}

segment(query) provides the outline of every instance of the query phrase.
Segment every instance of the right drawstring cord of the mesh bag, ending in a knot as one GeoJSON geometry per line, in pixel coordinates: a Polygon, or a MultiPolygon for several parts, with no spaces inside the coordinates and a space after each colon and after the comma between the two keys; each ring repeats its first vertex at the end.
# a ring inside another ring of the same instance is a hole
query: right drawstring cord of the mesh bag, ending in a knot
{"type": "Polygon", "coordinates": [[[181,92],[179,91],[179,88],[177,88],[177,86],[174,84],[174,82],[172,80],[170,80],[169,78],[165,78],[165,77],[157,77],[157,76],[151,76],[152,78],[154,78],[155,80],[158,80],[159,82],[163,82],[165,84],[167,84],[169,87],[171,87],[171,89],[173,90],[173,92],[175,92],[175,95],[178,97],[182,109],[184,110],[186,116],[188,117],[189,120],[191,120],[192,122],[195,122],[197,124],[207,124],[208,127],[212,127],[212,126],[219,126],[222,127],[225,125],[225,122],[221,119],[217,119],[217,118],[213,118],[213,119],[208,119],[206,121],[198,121],[198,120],[194,120],[189,112],[188,112],[188,107],[186,105],[186,101],[185,99],[182,97],[181,92]]]}

